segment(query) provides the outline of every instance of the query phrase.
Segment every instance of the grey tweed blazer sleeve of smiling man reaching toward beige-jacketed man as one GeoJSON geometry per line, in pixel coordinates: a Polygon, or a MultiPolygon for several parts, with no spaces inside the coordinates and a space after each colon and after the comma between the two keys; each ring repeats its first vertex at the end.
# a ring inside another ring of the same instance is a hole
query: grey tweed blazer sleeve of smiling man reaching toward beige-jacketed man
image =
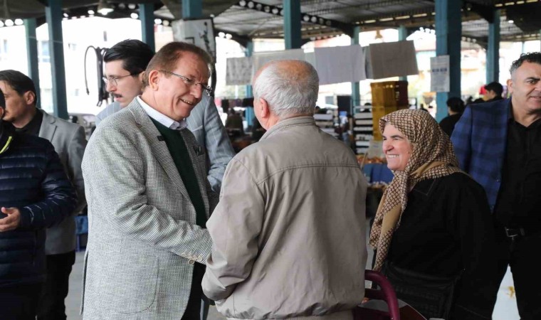
{"type": "MultiPolygon", "coordinates": [[[[90,138],[83,157],[83,176],[91,219],[99,219],[126,238],[205,263],[211,250],[208,231],[149,204],[145,157],[153,155],[142,154],[151,151],[148,145],[140,145],[135,132],[102,126],[90,138]]],[[[166,191],[162,181],[153,187],[166,191]]]]}

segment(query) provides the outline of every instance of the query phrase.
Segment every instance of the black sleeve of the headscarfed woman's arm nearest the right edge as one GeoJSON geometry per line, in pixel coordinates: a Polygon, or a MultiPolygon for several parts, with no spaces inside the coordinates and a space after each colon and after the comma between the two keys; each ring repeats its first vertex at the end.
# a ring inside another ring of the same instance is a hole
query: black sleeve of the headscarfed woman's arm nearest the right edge
{"type": "Polygon", "coordinates": [[[483,187],[473,180],[458,189],[454,229],[461,244],[463,273],[451,319],[490,320],[500,287],[490,208],[483,187]]]}

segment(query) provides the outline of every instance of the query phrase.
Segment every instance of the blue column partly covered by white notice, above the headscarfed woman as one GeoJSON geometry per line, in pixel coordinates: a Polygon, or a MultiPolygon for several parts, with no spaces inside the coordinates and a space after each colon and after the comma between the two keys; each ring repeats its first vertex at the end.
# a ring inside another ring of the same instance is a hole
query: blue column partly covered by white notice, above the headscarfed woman
{"type": "Polygon", "coordinates": [[[436,120],[447,116],[446,101],[461,96],[461,2],[436,0],[436,55],[449,55],[449,92],[436,93],[436,120]]]}

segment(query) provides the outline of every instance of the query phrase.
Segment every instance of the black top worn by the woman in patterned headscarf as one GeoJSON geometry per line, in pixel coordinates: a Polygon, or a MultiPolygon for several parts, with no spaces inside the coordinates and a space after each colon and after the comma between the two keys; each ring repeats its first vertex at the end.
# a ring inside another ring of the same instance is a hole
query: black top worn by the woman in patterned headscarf
{"type": "Polygon", "coordinates": [[[498,278],[493,220],[483,187],[461,173],[417,183],[408,195],[387,259],[425,274],[463,272],[456,304],[468,316],[453,319],[490,319],[499,282],[493,280],[498,278]]]}

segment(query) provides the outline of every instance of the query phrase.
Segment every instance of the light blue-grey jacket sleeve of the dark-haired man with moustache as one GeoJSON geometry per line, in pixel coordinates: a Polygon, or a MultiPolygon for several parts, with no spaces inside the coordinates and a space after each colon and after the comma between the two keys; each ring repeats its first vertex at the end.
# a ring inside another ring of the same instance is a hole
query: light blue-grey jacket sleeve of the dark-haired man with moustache
{"type": "Polygon", "coordinates": [[[210,98],[204,112],[205,146],[209,154],[209,182],[212,190],[220,193],[221,181],[229,161],[235,156],[231,140],[221,122],[214,99],[210,98]]]}

